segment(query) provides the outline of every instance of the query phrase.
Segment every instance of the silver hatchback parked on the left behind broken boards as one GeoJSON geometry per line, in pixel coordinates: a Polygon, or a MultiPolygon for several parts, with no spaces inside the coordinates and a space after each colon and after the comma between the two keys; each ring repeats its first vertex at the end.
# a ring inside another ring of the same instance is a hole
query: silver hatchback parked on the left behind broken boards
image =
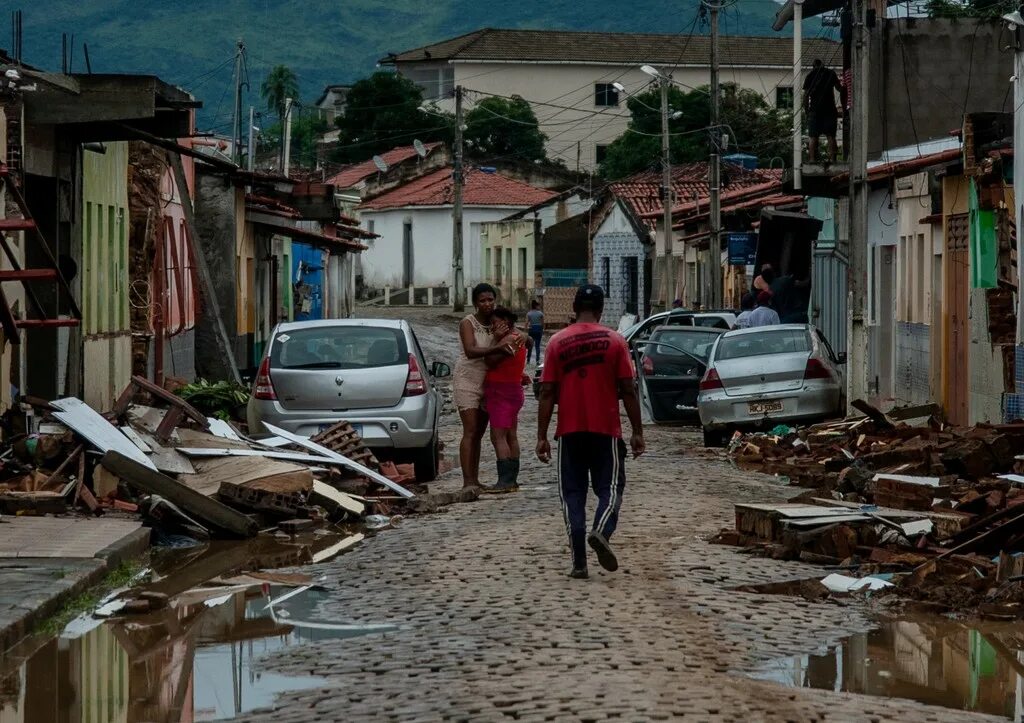
{"type": "Polygon", "coordinates": [[[441,400],[407,322],[334,318],[281,324],[270,336],[247,409],[252,434],[263,422],[312,436],[344,420],[367,445],[413,462],[420,481],[437,476],[441,400]]]}

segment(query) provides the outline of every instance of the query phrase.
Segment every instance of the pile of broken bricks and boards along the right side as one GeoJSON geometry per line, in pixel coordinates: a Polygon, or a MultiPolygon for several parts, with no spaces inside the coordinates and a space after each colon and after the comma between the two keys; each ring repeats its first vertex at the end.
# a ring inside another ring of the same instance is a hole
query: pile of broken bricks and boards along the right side
{"type": "Polygon", "coordinates": [[[891,586],[941,610],[1024,616],[1024,424],[955,428],[927,410],[858,407],[868,416],[735,439],[738,467],[812,490],[735,505],[735,528],[716,541],[860,576],[831,580],[833,592],[891,586]]]}

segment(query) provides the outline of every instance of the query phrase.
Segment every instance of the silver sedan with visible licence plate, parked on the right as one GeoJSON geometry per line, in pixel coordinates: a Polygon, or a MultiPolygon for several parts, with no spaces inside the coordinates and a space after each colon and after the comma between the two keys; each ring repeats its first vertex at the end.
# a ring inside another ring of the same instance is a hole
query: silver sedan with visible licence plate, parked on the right
{"type": "Polygon", "coordinates": [[[843,416],[845,356],[806,324],[726,332],[712,349],[697,395],[705,444],[722,444],[735,428],[843,416]]]}

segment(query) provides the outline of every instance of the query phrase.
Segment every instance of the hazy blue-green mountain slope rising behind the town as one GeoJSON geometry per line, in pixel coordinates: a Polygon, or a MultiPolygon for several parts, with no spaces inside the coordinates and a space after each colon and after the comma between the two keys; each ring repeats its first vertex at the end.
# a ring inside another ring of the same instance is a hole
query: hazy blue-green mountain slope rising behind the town
{"type": "MultiPolygon", "coordinates": [[[[248,48],[246,105],[260,107],[260,83],[279,63],[298,75],[309,105],[324,86],[369,75],[388,52],[478,28],[707,33],[698,7],[695,0],[47,0],[22,9],[26,62],[60,70],[61,33],[74,34],[75,72],[85,71],[88,43],[94,73],[158,75],[203,101],[202,128],[224,131],[239,39],[248,48]]],[[[722,33],[771,35],[778,7],[773,0],[736,0],[722,11],[722,33]]],[[[820,33],[814,23],[808,31],[820,33]]]]}

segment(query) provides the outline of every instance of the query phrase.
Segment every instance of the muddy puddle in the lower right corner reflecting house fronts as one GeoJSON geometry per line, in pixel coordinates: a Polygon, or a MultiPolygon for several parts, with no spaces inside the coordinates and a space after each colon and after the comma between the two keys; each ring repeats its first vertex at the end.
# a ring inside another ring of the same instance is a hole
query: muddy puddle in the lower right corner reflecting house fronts
{"type": "Polygon", "coordinates": [[[921,618],[751,674],[790,687],[902,697],[1024,721],[1024,628],[921,618]]]}

